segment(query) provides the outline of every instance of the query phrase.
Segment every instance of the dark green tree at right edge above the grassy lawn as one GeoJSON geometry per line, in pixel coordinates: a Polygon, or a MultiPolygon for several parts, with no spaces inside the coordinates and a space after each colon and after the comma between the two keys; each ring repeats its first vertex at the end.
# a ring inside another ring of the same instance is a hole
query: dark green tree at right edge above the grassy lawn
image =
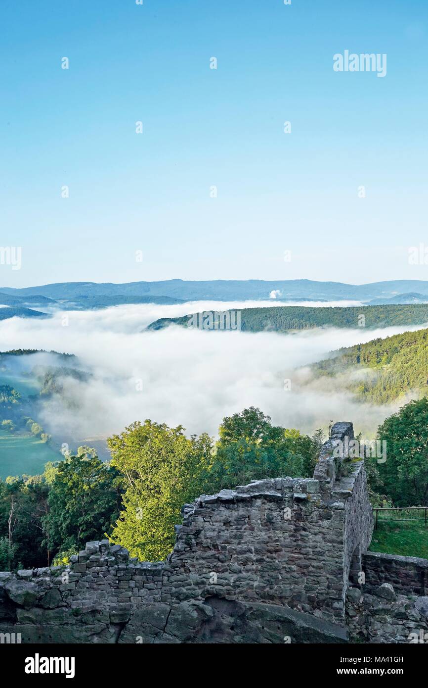
{"type": "Polygon", "coordinates": [[[428,398],[403,406],[378,428],[386,462],[378,464],[383,490],[396,506],[428,504],[428,398]]]}

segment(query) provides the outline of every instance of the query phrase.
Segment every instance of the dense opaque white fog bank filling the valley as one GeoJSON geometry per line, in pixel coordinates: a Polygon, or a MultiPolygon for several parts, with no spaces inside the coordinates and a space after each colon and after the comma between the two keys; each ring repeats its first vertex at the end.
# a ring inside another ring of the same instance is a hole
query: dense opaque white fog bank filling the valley
{"type": "MultiPolygon", "coordinates": [[[[245,307],[249,305],[260,307],[260,301],[245,302],[245,307]]],[[[329,389],[325,382],[302,386],[295,370],[326,358],[339,347],[419,327],[277,334],[203,332],[172,326],[142,332],[161,317],[243,306],[242,302],[143,304],[57,312],[48,320],[14,318],[0,323],[0,350],[31,348],[76,354],[82,367],[91,371],[85,383],[67,380],[67,405],[55,398],[45,409],[41,420],[59,438],[105,438],[145,418],[182,424],[188,433],[215,435],[223,416],[250,405],[260,407],[284,427],[311,432],[326,428],[330,419],[352,420],[356,431],[369,436],[396,410],[363,405],[347,392],[329,389]],[[284,380],[291,380],[291,389],[284,380]]]]}

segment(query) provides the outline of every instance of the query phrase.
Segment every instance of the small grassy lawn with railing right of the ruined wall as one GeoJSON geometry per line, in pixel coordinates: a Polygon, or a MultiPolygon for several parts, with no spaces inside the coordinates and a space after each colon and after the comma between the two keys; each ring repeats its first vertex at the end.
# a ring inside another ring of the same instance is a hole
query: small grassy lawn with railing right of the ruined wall
{"type": "MultiPolygon", "coordinates": [[[[379,527],[373,531],[370,551],[428,559],[428,527],[425,528],[425,513],[420,511],[418,514],[423,517],[423,521],[385,523],[379,520],[379,527]]],[[[393,518],[391,513],[390,518],[393,518]]]]}

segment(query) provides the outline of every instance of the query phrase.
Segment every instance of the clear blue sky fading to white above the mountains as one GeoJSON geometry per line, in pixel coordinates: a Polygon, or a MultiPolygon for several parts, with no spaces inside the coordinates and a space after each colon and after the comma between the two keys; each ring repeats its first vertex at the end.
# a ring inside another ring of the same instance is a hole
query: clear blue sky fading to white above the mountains
{"type": "Polygon", "coordinates": [[[428,279],[407,259],[428,247],[426,0],[3,0],[0,18],[0,245],[22,247],[0,286],[428,279]],[[344,50],[387,54],[387,75],[334,72],[344,50]]]}

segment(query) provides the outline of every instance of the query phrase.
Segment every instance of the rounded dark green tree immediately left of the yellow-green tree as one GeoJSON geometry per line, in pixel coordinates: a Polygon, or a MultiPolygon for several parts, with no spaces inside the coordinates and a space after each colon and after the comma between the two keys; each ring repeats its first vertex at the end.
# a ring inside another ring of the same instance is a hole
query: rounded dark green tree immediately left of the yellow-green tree
{"type": "Polygon", "coordinates": [[[79,447],[76,456],[47,466],[49,513],[43,517],[44,542],[54,552],[78,550],[110,530],[120,511],[117,471],[95,450],[79,447]]]}

